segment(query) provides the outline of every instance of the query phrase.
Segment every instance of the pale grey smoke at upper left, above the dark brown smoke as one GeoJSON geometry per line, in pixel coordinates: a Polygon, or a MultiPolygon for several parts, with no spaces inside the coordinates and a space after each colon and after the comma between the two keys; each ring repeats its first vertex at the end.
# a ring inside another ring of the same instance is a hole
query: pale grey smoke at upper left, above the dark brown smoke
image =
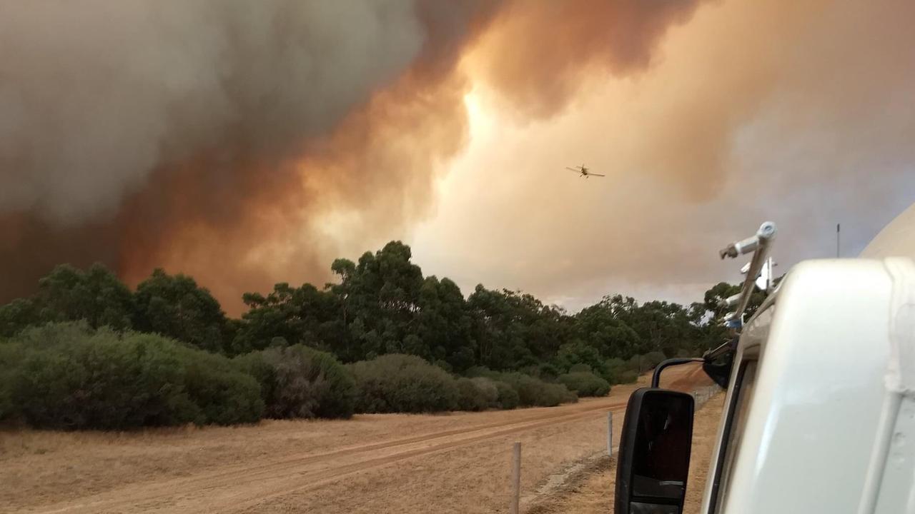
{"type": "Polygon", "coordinates": [[[111,216],[156,166],[284,155],[402,73],[414,2],[4,1],[0,214],[111,216]]]}

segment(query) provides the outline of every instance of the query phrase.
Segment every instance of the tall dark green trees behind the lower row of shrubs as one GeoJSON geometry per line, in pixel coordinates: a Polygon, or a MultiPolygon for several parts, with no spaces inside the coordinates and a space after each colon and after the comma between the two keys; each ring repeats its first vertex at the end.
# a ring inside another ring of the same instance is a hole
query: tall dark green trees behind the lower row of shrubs
{"type": "MultiPolygon", "coordinates": [[[[102,264],[85,271],[64,264],[40,279],[38,293],[0,306],[0,337],[85,320],[91,328],[156,333],[230,357],[302,344],[343,362],[397,353],[454,372],[483,366],[555,375],[578,363],[604,369],[608,359],[651,352],[698,355],[723,341],[718,301],[738,290],[717,284],[692,305],[640,304],[615,294],[569,314],[531,294],[482,284],[465,297],[451,280],[424,276],[400,241],[358,262],[338,259],[331,270],[335,284],[283,283],[244,294],[248,310],[232,319],[187,275],[157,269],[131,291],[102,264]]],[[[752,305],[761,299],[756,294],[752,305]]]]}

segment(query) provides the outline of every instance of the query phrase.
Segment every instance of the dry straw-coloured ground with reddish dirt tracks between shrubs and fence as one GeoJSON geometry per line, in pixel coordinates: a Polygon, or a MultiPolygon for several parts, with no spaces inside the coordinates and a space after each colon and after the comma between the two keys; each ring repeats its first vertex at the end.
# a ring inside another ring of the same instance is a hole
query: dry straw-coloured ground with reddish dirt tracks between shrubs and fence
{"type": "MultiPolygon", "coordinates": [[[[696,367],[665,377],[681,389],[702,380],[696,367]]],[[[140,434],[5,433],[0,510],[498,512],[506,507],[511,442],[523,444],[522,491],[533,491],[554,470],[606,444],[606,412],[615,412],[619,431],[635,387],[511,412],[140,434]]]]}

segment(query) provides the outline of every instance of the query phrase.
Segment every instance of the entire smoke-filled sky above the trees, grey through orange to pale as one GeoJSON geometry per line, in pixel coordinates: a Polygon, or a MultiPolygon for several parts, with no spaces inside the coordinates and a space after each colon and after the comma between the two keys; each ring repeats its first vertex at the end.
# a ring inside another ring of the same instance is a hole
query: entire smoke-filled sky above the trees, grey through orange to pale
{"type": "Polygon", "coordinates": [[[787,271],[915,202],[906,0],[0,10],[0,301],[103,262],[234,316],[400,240],[465,294],[685,303],[764,220],[787,271]]]}

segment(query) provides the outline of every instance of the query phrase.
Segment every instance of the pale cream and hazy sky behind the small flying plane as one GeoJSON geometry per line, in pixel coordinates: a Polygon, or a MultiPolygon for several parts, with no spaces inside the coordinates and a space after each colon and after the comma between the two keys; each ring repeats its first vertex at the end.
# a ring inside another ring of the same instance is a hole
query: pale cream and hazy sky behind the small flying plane
{"type": "Polygon", "coordinates": [[[764,220],[780,228],[780,272],[833,257],[836,223],[842,255],[856,256],[915,202],[915,55],[894,48],[908,28],[877,4],[839,3],[797,27],[777,8],[701,6],[650,70],[593,79],[545,122],[514,123],[485,86],[469,92],[470,143],[408,238],[416,261],[464,290],[521,288],[577,310],[618,292],[688,303],[737,282],[744,261],[717,251],[764,220]],[[741,112],[709,134],[692,124],[704,110],[741,112]],[[709,136],[727,139],[717,171],[667,154],[709,136]],[[608,177],[565,171],[583,163],[608,177]]]}

